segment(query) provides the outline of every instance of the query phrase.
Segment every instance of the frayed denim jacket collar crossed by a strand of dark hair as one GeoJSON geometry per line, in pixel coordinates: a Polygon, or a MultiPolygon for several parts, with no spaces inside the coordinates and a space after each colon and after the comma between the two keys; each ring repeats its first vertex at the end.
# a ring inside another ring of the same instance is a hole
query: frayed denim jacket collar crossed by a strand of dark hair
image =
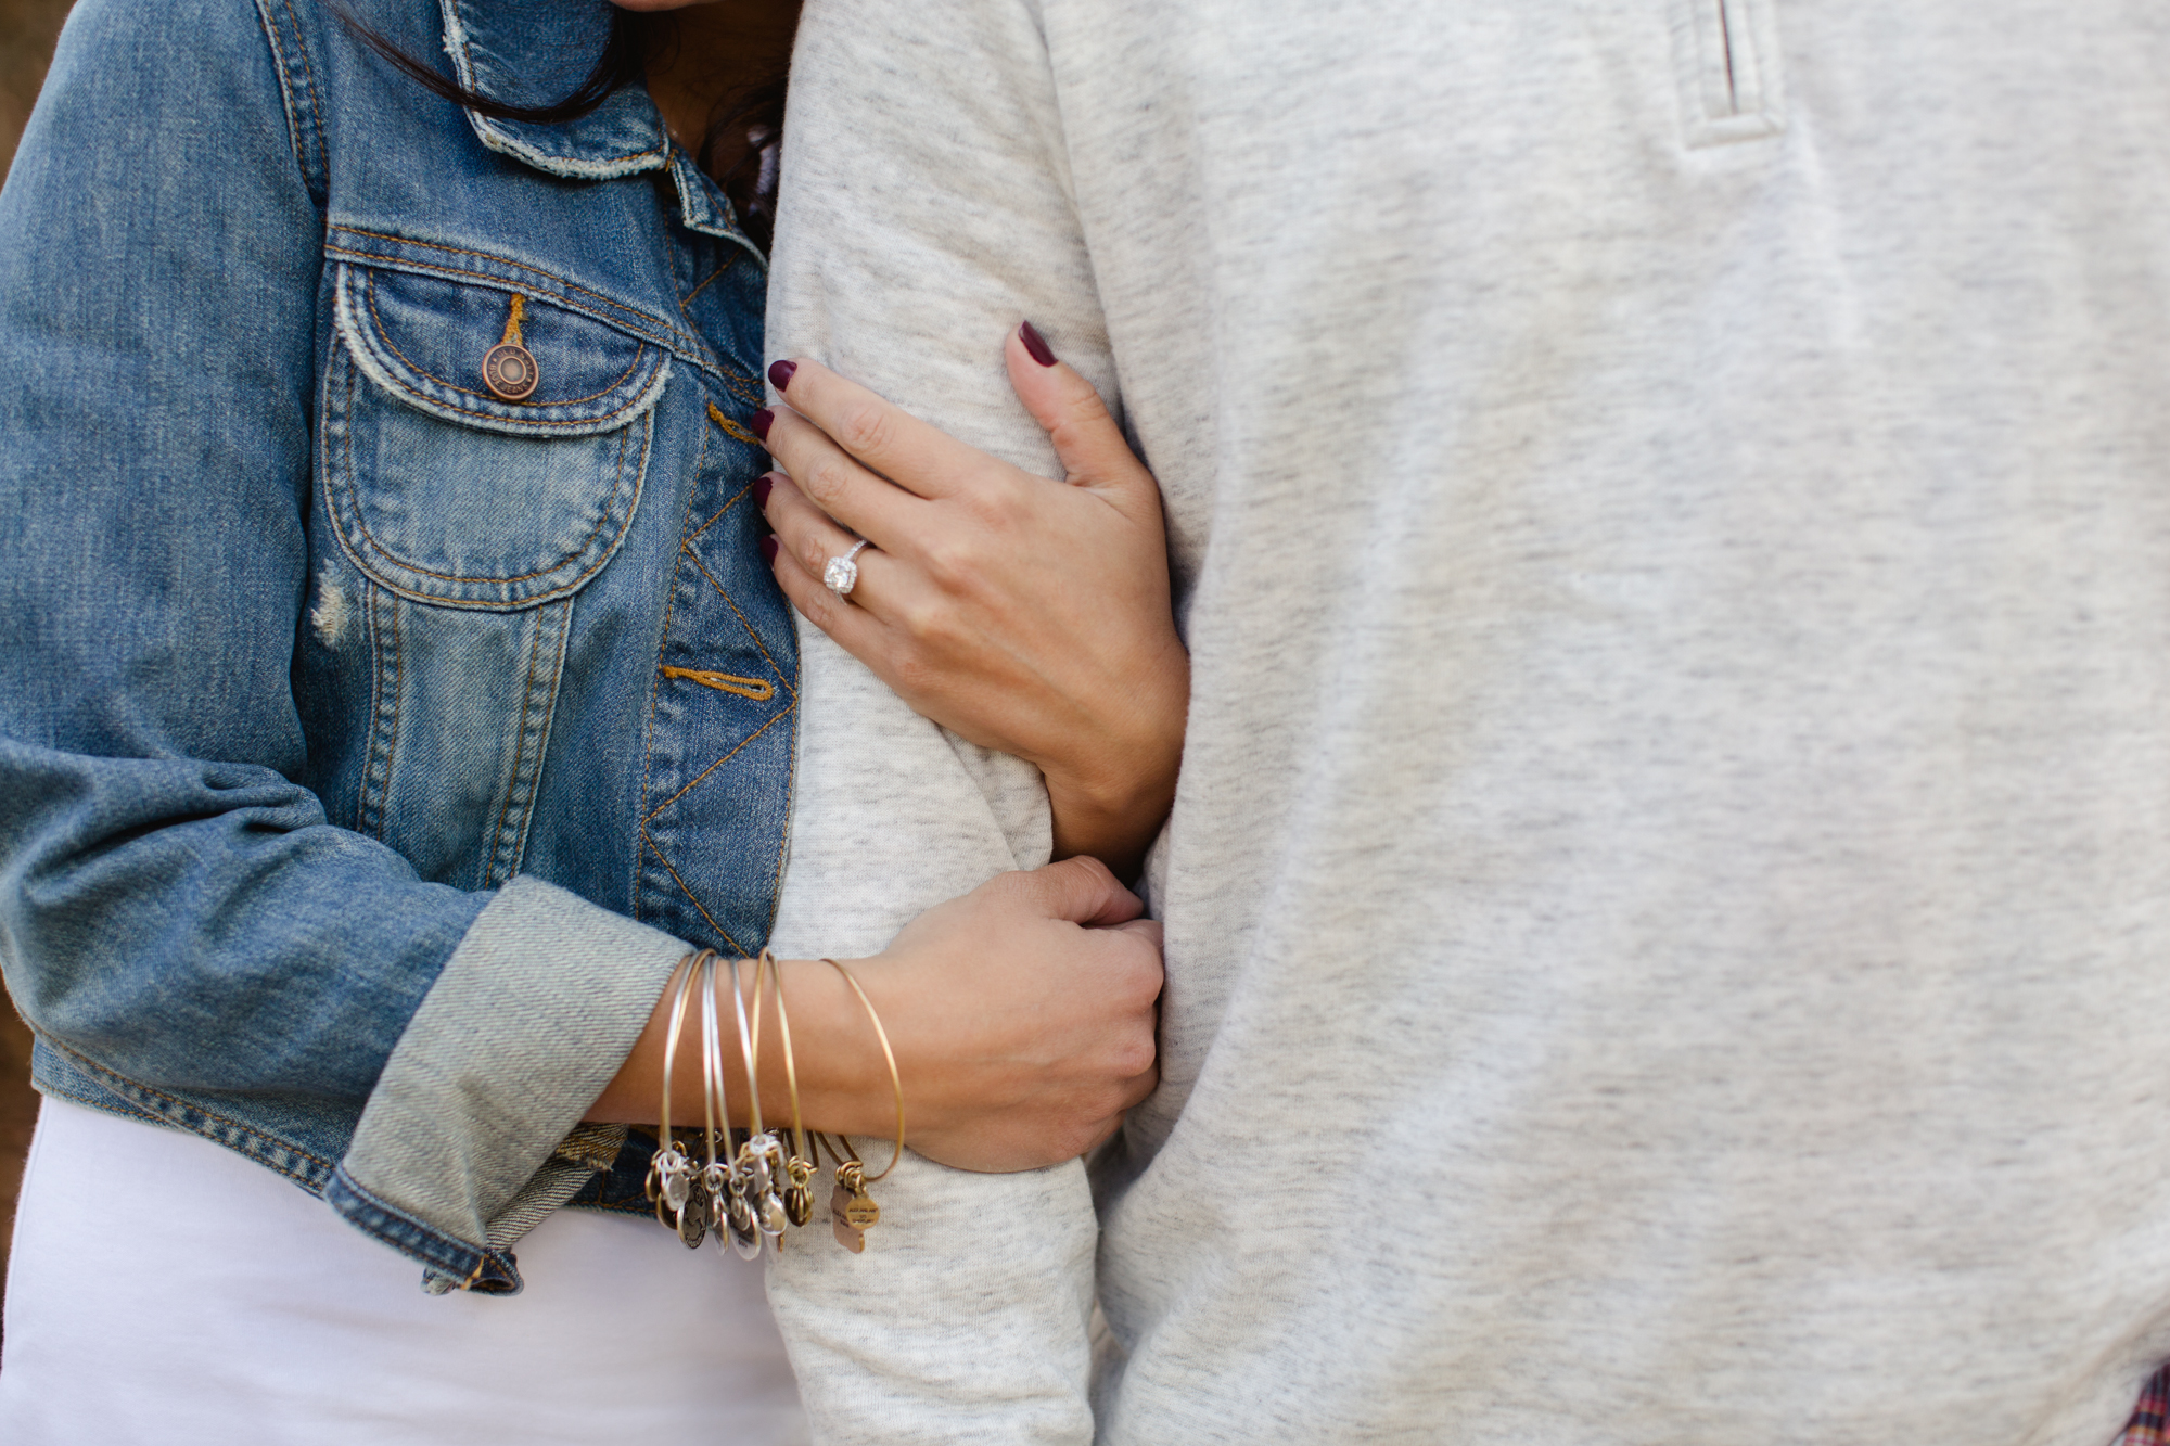
{"type": "MultiPolygon", "coordinates": [[[[506,104],[549,104],[571,96],[610,35],[608,0],[438,0],[445,54],[471,91],[506,104]]],[[[467,113],[488,150],[551,176],[608,180],[653,172],[671,156],[655,102],[625,87],[575,122],[536,126],[467,113]]]]}

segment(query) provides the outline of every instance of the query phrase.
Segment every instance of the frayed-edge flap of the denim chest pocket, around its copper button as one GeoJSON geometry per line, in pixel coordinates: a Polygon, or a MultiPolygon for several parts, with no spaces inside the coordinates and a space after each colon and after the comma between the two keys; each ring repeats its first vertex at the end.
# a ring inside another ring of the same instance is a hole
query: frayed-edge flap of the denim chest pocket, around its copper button
{"type": "Polygon", "coordinates": [[[612,432],[655,406],[668,354],[547,300],[341,263],[334,326],[362,373],[445,421],[514,436],[612,432]],[[501,343],[532,358],[529,391],[484,376],[501,343]]]}

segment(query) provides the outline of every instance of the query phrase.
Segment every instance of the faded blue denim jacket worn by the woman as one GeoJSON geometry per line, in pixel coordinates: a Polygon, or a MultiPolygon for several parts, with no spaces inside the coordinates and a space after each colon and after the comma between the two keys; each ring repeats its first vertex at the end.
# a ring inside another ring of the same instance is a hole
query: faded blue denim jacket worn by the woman
{"type": "MultiPolygon", "coordinates": [[[[608,24],[356,9],[527,104],[608,24]]],[[[516,1290],[512,1240],[610,1203],[584,1109],[783,866],[764,280],[638,87],[510,124],[321,0],[76,7],[0,191],[0,964],[43,1092],[436,1288],[516,1290]]]]}

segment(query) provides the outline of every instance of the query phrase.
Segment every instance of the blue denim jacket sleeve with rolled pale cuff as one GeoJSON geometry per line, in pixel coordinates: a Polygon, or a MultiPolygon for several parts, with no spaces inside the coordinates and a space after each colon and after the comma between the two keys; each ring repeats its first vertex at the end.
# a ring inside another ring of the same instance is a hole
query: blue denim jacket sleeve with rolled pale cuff
{"type": "Polygon", "coordinates": [[[679,944],[536,881],[425,884],[295,782],[299,39],[247,0],[82,0],[0,191],[0,964],[74,1077],[508,1290],[679,944]]]}

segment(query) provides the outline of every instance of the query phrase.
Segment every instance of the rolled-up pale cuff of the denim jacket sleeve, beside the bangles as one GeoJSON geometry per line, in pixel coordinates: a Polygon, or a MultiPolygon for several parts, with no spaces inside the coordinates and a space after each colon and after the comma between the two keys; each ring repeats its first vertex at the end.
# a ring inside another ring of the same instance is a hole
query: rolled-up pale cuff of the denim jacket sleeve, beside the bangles
{"type": "Polygon", "coordinates": [[[436,1288],[519,1290],[510,1246],[592,1175],[560,1144],[686,953],[551,884],[506,884],[399,1036],[326,1201],[436,1288]]]}

